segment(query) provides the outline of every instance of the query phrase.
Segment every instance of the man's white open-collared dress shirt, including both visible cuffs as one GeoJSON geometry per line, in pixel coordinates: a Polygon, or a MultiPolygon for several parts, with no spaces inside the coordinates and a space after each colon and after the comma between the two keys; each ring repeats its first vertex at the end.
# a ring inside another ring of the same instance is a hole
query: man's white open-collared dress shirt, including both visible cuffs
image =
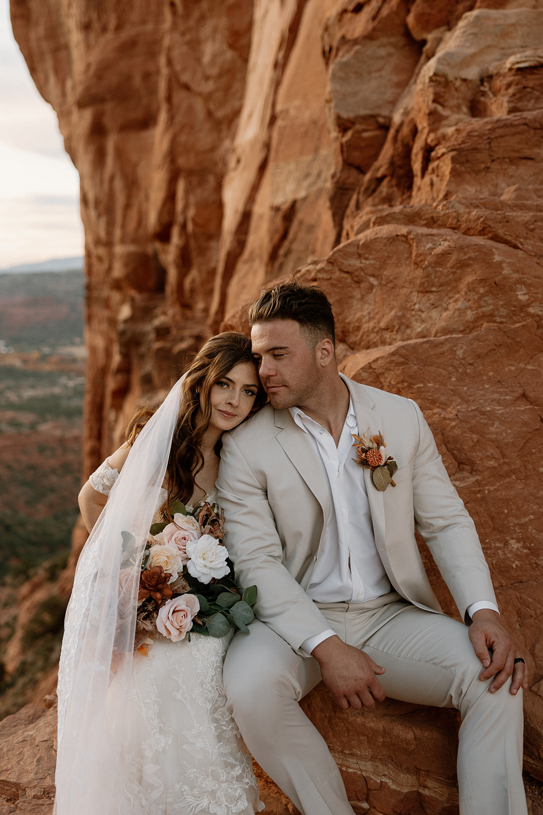
{"type": "MultiPolygon", "coordinates": [[[[289,410],[300,430],[309,434],[330,498],[326,530],[307,589],[309,597],[320,602],[361,603],[388,594],[392,587],[375,546],[363,469],[355,461],[353,434],[358,434],[358,427],[353,402],[349,400],[337,447],[331,434],[299,407],[289,410]]],[[[494,603],[480,601],[472,603],[467,613],[471,616],[481,608],[497,611],[494,603]]],[[[309,656],[320,642],[334,635],[331,628],[326,629],[305,640],[301,650],[309,656]]]]}

